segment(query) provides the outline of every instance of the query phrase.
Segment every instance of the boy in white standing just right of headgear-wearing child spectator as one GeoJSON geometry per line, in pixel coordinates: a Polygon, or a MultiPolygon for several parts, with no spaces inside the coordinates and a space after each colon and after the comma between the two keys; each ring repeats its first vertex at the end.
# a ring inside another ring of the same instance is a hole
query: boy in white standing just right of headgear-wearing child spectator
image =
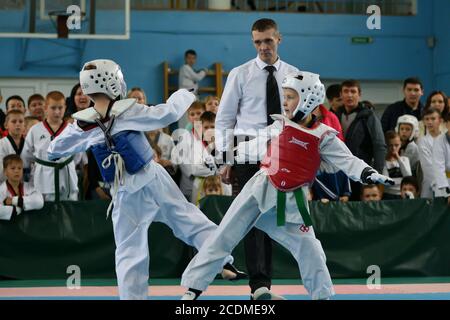
{"type": "Polygon", "coordinates": [[[440,135],[439,127],[442,122],[441,113],[435,108],[428,108],[423,114],[423,122],[426,128],[426,134],[419,138],[419,160],[422,170],[422,186],[420,196],[422,198],[432,198],[432,185],[435,181],[433,169],[433,145],[440,135]]]}

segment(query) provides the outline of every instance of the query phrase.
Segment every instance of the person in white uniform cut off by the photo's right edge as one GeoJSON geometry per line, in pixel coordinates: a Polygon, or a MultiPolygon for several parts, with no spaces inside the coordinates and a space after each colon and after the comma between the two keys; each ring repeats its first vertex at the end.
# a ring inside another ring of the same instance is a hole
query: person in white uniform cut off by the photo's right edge
{"type": "Polygon", "coordinates": [[[433,190],[436,197],[446,197],[450,205],[450,114],[444,118],[447,132],[440,134],[433,145],[433,190]]]}

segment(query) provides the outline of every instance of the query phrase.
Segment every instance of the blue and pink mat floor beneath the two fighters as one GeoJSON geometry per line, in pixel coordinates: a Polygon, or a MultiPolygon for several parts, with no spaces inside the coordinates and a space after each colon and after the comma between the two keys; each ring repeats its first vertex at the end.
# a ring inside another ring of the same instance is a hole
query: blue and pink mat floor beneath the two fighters
{"type": "MultiPolygon", "coordinates": [[[[388,278],[380,288],[370,289],[366,279],[333,280],[336,295],[332,300],[450,300],[450,277],[388,278]]],[[[180,279],[152,279],[149,299],[178,300],[185,289],[180,279]]],[[[272,291],[288,300],[309,300],[299,280],[274,280],[272,291]]],[[[70,289],[65,280],[2,280],[0,300],[116,300],[115,280],[82,281],[80,288],[70,289]]],[[[248,300],[246,280],[230,283],[215,280],[200,297],[201,300],[248,300]]]]}

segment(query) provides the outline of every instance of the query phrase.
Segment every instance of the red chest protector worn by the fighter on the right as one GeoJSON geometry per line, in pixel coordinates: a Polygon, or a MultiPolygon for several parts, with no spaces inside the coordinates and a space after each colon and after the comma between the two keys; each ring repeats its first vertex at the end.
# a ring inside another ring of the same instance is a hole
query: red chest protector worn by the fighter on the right
{"type": "Polygon", "coordinates": [[[272,139],[261,168],[268,171],[276,189],[292,191],[314,181],[321,161],[319,144],[328,131],[320,126],[300,130],[284,125],[281,134],[272,139]]]}

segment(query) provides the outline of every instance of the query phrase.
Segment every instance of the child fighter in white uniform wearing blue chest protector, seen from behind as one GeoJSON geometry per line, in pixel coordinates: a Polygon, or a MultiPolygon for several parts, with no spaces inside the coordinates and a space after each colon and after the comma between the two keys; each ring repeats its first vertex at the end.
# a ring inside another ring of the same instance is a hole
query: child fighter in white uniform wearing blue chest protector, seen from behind
{"type": "MultiPolygon", "coordinates": [[[[91,148],[104,181],[112,185],[120,298],[146,299],[148,228],[152,221],[165,223],[176,237],[197,249],[217,228],[186,201],[166,170],[152,160],[144,134],[177,121],[195,96],[182,89],[167,103],[151,107],[137,104],[135,99],[120,100],[125,97],[126,85],[120,67],[111,60],[87,62],[80,72],[80,83],[95,105],[72,115],[76,123],[52,141],[49,157],[55,159],[91,148]]],[[[242,274],[231,262],[232,257],[227,256],[224,268],[230,278],[238,279],[242,274]]]]}

